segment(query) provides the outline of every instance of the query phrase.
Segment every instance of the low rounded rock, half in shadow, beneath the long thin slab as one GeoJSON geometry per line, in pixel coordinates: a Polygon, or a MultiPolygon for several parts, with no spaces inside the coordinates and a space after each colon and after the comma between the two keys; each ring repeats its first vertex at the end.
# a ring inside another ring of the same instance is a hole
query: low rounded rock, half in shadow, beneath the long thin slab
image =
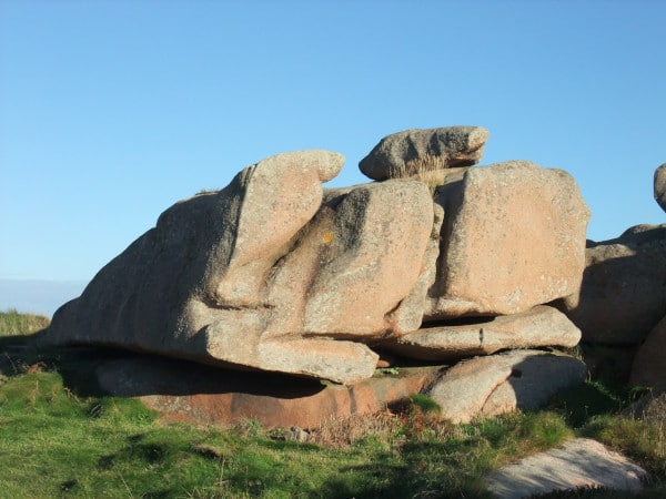
{"type": "Polygon", "coordinates": [[[442,419],[470,422],[477,415],[536,409],[559,389],[583,383],[586,371],[573,357],[513,350],[456,364],[427,395],[440,405],[442,419]]]}

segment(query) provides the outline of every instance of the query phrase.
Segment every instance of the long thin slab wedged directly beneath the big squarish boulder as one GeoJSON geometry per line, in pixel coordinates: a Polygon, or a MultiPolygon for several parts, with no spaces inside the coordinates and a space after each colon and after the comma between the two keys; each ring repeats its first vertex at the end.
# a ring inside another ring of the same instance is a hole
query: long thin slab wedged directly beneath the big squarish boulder
{"type": "Polygon", "coordinates": [[[539,305],[463,325],[425,327],[392,336],[377,346],[410,358],[451,360],[516,348],[573,347],[579,340],[581,330],[563,313],[539,305]]]}

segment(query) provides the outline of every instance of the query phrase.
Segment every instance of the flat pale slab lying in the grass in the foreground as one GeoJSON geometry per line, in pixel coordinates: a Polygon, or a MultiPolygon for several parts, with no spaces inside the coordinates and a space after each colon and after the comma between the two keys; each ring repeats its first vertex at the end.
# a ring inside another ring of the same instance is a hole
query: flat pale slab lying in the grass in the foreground
{"type": "Polygon", "coordinates": [[[577,438],[501,468],[486,479],[486,488],[502,499],[577,488],[637,491],[646,475],[643,468],[603,444],[577,438]]]}

